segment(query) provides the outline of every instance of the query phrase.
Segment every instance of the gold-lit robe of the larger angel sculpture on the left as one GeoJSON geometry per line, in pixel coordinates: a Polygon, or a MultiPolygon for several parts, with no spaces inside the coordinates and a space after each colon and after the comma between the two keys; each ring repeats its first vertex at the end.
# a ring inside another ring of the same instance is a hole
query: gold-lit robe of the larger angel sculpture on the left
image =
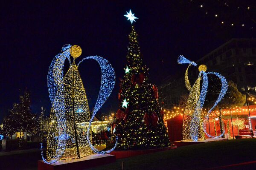
{"type": "MultiPolygon", "coordinates": [[[[87,128],[81,124],[90,121],[90,112],[84,85],[75,61],[70,65],[64,79],[64,105],[66,118],[66,149],[61,159],[81,158],[92,153],[87,142],[87,128]]],[[[51,160],[57,148],[57,120],[52,109],[47,135],[47,159],[51,160]]]]}

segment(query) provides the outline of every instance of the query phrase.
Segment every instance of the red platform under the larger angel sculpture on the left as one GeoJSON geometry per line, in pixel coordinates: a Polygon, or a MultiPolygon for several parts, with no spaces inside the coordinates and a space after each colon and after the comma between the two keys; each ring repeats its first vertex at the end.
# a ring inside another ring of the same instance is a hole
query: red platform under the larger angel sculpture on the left
{"type": "Polygon", "coordinates": [[[38,170],[84,170],[103,164],[116,161],[114,155],[92,154],[81,159],[60,160],[53,164],[47,164],[44,161],[38,161],[38,170]]]}

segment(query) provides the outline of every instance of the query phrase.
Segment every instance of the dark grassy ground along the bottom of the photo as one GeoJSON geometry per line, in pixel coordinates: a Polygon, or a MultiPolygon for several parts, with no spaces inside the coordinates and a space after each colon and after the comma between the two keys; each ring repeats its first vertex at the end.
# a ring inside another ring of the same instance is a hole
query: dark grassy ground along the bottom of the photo
{"type": "MultiPolygon", "coordinates": [[[[39,159],[39,149],[0,152],[0,170],[37,170],[39,159]]],[[[112,164],[90,170],[120,170],[122,161],[124,170],[256,170],[256,139],[178,147],[164,152],[117,159],[112,164]]]]}

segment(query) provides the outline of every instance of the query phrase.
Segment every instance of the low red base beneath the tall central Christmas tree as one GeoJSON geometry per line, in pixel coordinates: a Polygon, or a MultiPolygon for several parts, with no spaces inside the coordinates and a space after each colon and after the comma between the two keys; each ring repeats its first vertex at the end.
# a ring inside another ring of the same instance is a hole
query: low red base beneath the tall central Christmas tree
{"type": "Polygon", "coordinates": [[[169,146],[169,147],[161,147],[156,149],[146,149],[146,150],[114,150],[111,154],[116,156],[116,159],[128,158],[131,156],[138,156],[144,155],[148,153],[155,153],[165,150],[175,149],[176,146],[169,146]]]}

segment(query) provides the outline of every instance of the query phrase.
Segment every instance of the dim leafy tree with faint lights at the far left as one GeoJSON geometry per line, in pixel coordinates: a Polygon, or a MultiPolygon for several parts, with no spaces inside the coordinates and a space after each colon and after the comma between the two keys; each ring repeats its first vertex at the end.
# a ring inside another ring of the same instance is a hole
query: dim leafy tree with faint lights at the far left
{"type": "Polygon", "coordinates": [[[6,136],[20,132],[19,146],[22,147],[24,132],[32,133],[36,125],[36,115],[30,109],[30,94],[20,95],[20,102],[14,103],[9,115],[3,119],[3,132],[6,136]]]}

